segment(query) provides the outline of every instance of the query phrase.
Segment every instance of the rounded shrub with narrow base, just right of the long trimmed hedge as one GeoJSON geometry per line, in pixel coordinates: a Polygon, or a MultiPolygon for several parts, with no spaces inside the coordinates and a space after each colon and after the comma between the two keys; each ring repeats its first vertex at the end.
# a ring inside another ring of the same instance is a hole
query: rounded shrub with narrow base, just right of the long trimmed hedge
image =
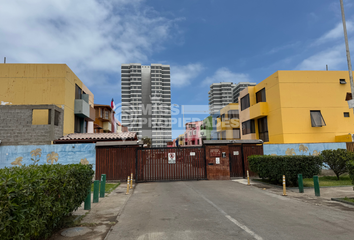
{"type": "Polygon", "coordinates": [[[354,154],[347,151],[346,149],[337,149],[337,150],[323,150],[321,152],[321,159],[337,176],[343,173],[348,172],[347,162],[353,159],[354,154]]]}

